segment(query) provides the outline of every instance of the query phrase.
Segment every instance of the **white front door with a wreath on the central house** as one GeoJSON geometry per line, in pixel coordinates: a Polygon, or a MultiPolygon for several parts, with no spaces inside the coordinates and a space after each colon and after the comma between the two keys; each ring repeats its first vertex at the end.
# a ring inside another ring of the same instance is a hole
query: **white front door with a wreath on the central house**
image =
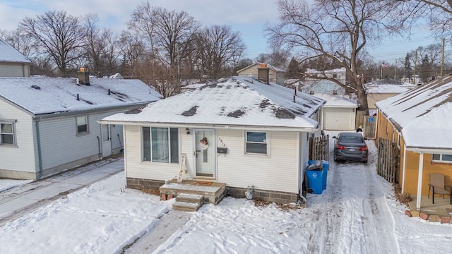
{"type": "Polygon", "coordinates": [[[213,177],[215,172],[215,131],[195,129],[196,176],[213,177]]]}

